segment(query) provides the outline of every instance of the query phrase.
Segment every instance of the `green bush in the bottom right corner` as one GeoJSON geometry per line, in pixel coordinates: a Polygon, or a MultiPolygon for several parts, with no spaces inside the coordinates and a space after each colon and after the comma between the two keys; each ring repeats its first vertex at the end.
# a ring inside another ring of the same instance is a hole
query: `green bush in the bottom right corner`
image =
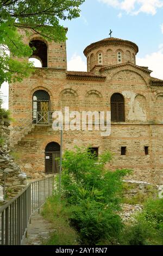
{"type": "Polygon", "coordinates": [[[163,244],[163,199],[149,199],[135,219],[135,224],[127,226],[122,231],[121,244],[163,244]]]}

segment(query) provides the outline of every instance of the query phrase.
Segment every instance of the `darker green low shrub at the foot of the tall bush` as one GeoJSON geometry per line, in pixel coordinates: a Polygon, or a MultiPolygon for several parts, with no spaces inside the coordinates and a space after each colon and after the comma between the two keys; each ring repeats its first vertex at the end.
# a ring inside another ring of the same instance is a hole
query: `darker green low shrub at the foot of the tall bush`
{"type": "Polygon", "coordinates": [[[72,208],[70,223],[84,245],[103,244],[105,241],[112,244],[123,227],[120,216],[91,200],[83,200],[72,208]]]}

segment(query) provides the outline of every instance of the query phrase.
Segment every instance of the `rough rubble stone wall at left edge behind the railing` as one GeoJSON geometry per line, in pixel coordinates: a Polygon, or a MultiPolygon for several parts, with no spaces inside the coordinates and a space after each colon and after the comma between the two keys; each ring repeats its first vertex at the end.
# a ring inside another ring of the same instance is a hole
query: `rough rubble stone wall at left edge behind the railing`
{"type": "Polygon", "coordinates": [[[6,174],[6,195],[7,199],[16,196],[26,186],[26,174],[14,163],[14,158],[9,154],[9,122],[0,119],[0,137],[3,143],[0,145],[0,186],[1,199],[3,199],[4,173],[6,174]]]}

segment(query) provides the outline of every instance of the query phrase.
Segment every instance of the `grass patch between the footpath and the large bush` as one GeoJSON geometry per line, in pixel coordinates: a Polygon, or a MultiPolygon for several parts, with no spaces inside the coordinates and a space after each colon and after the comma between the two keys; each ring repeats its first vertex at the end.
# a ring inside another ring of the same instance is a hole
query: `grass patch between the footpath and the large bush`
{"type": "Polygon", "coordinates": [[[42,216],[52,223],[55,229],[48,240],[43,245],[78,245],[78,235],[70,227],[68,221],[68,211],[65,202],[58,202],[56,196],[48,198],[41,212],[42,216]]]}

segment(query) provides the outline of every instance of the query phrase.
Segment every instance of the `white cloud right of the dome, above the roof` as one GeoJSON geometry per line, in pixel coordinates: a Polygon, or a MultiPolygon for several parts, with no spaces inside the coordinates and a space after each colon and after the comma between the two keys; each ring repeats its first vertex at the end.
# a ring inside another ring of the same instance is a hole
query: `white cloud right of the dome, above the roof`
{"type": "Polygon", "coordinates": [[[147,54],[143,58],[136,58],[136,64],[140,66],[148,66],[148,68],[153,71],[151,76],[163,80],[163,44],[159,46],[158,52],[147,54]]]}

